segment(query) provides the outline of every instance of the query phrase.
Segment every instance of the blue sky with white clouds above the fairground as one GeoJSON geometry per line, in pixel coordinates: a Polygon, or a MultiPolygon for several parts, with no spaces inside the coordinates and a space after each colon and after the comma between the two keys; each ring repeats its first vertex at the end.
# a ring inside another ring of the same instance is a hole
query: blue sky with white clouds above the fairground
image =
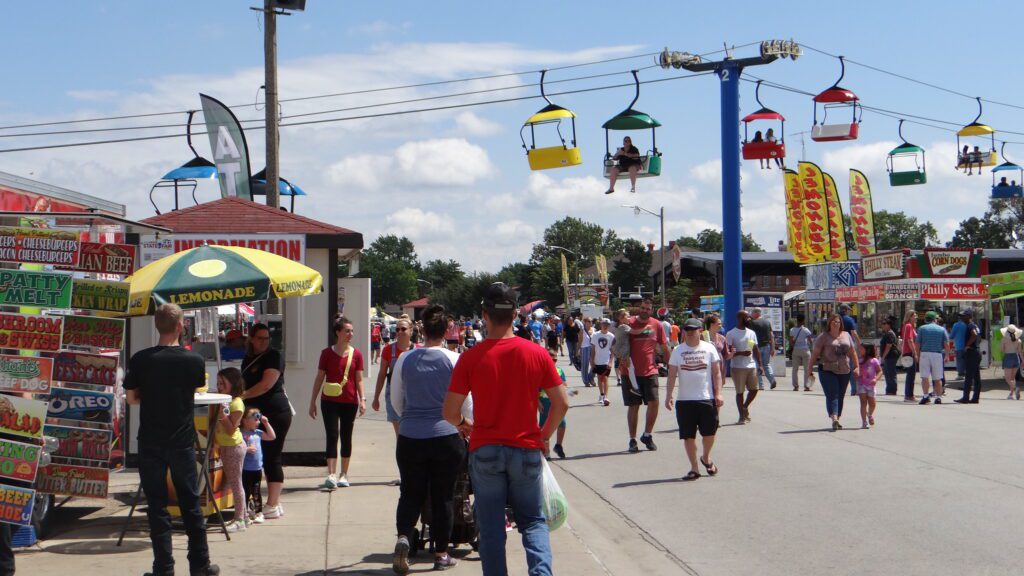
{"type": "MultiPolygon", "coordinates": [[[[0,93],[0,125],[198,108],[199,91],[230,104],[253,101],[262,83],[262,32],[252,2],[20,2],[5,7],[0,46],[7,89],[0,93]]],[[[538,70],[658,51],[707,52],[723,41],[741,45],[794,38],[805,46],[947,86],[972,95],[1024,106],[1019,41],[999,27],[979,34],[965,18],[1020,22],[1019,3],[994,2],[982,13],[963,3],[763,2],[662,3],[624,10],[612,2],[391,2],[308,0],[304,13],[279,19],[282,97],[538,70]],[[551,5],[555,6],[552,8],[551,5]],[[819,6],[818,4],[826,4],[819,6]]],[[[986,25],[986,30],[988,27],[986,25]]],[[[737,50],[753,54],[755,47],[737,50]]],[[[835,81],[835,58],[811,50],[750,74],[820,91],[835,81]]],[[[720,57],[720,54],[715,57],[720,57]]],[[[627,72],[652,59],[634,59],[552,73],[551,80],[627,72]]],[[[678,75],[646,70],[643,79],[678,75]]],[[[286,104],[284,114],[379,104],[463,89],[535,82],[536,75],[361,96],[286,104]]],[[[612,78],[572,87],[627,81],[612,78]]],[[[966,124],[976,114],[967,98],[848,66],[843,85],[869,106],[966,124]]],[[[527,95],[536,89],[501,92],[527,95]]],[[[476,96],[486,99],[493,96],[476,96]]],[[[714,78],[651,84],[637,108],[665,127],[660,178],[647,179],[635,197],[628,187],[605,197],[600,176],[600,124],[632,97],[631,89],[573,94],[556,101],[579,114],[582,166],[530,173],[519,147],[522,121],[540,100],[426,113],[375,121],[282,130],[282,170],[310,197],[300,213],[362,232],[410,236],[424,257],[452,257],[469,270],[497,270],[528,257],[530,244],[557,218],[575,215],[643,242],[657,238],[656,220],[620,207],[666,206],[667,238],[721,224],[718,180],[719,101],[714,78]],[[476,248],[467,251],[467,238],[476,248]]],[[[468,101],[464,97],[457,101],[468,101]]],[[[765,105],[786,116],[791,159],[811,124],[806,96],[762,90],[765,105]]],[[[403,107],[392,107],[398,110],[403,107]]],[[[408,107],[407,107],[408,108],[408,107]]],[[[752,84],[741,85],[742,113],[757,108],[752,84]]],[[[1022,110],[986,105],[982,120],[997,130],[1024,132],[1022,110]]],[[[242,118],[262,115],[252,108],[242,118]]],[[[176,123],[161,117],[121,125],[176,123]]],[[[12,130],[0,130],[0,134],[12,130]]],[[[164,130],[166,132],[166,130],[164,130]]],[[[885,152],[896,143],[896,121],[865,113],[855,142],[814,143],[807,157],[840,182],[848,168],[871,178],[876,207],[932,220],[948,239],[958,220],[981,215],[989,176],[952,169],[951,133],[906,125],[904,135],[928,150],[930,183],[890,189],[885,152]]],[[[74,139],[93,138],[95,136],[74,139]]],[[[1024,141],[1024,135],[1007,135],[1024,141]]],[[[634,139],[645,143],[643,135],[634,139]]],[[[262,134],[250,132],[255,169],[262,166],[262,134]]],[[[0,137],[0,148],[69,141],[69,136],[0,137]]],[[[206,141],[199,142],[208,155],[206,141]]],[[[1024,146],[1007,149],[1024,161],[1024,146]]],[[[188,158],[180,139],[0,154],[0,170],[113,198],[136,218],[153,214],[147,193],[166,170],[188,158]]],[[[784,237],[779,174],[743,165],[743,225],[766,247],[784,237]]],[[[841,189],[843,189],[841,183],[841,189]]],[[[217,195],[201,189],[202,199],[217,195]]],[[[163,203],[168,206],[167,202],[163,203]]]]}

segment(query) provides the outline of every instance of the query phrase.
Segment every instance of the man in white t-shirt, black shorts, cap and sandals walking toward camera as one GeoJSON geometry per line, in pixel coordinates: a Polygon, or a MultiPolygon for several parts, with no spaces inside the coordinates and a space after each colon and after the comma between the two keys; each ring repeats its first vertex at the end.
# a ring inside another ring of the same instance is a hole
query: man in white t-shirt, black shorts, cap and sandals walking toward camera
{"type": "Polygon", "coordinates": [[[672,393],[676,387],[676,376],[679,376],[679,401],[675,403],[676,421],[679,423],[679,438],[686,448],[686,457],[690,461],[690,471],[683,480],[700,478],[697,469],[697,430],[703,445],[700,464],[708,470],[708,476],[718,474],[718,466],[711,459],[711,450],[715,446],[715,433],[718,431],[718,409],[724,404],[722,400],[722,362],[715,344],[700,339],[703,324],[691,318],[683,324],[683,342],[672,351],[669,360],[669,384],[665,393],[665,408],[673,409],[672,393]]]}

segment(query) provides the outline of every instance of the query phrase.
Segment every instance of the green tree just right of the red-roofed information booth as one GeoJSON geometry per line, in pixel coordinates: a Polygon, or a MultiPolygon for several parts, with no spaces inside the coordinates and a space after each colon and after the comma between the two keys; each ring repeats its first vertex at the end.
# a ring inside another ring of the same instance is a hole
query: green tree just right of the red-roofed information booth
{"type": "Polygon", "coordinates": [[[373,305],[401,304],[419,294],[420,263],[413,242],[394,235],[375,240],[359,257],[359,278],[369,278],[373,305]]]}

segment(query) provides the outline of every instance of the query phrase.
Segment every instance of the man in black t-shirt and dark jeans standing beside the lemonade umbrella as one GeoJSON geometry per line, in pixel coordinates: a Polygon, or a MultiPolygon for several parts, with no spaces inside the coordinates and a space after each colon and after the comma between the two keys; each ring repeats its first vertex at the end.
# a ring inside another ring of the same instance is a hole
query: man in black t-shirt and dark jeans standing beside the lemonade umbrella
{"type": "Polygon", "coordinates": [[[138,476],[148,503],[153,576],[174,574],[171,515],[167,512],[167,471],[178,498],[188,534],[188,571],[193,576],[220,574],[210,564],[206,520],[199,504],[196,469],[196,388],[206,378],[203,357],[178,345],[184,331],[177,304],[157,310],[158,345],[136,353],[128,361],[124,387],[128,404],[139,406],[138,476]]]}

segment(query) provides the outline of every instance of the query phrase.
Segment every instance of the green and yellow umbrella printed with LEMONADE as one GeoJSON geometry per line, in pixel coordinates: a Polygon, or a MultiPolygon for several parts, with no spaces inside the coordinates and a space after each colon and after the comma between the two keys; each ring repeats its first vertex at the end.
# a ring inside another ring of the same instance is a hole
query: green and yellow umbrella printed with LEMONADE
{"type": "Polygon", "coordinates": [[[263,250],[199,246],[139,269],[131,283],[128,316],[145,316],[165,303],[199,308],[307,296],[323,290],[315,270],[263,250]]]}

